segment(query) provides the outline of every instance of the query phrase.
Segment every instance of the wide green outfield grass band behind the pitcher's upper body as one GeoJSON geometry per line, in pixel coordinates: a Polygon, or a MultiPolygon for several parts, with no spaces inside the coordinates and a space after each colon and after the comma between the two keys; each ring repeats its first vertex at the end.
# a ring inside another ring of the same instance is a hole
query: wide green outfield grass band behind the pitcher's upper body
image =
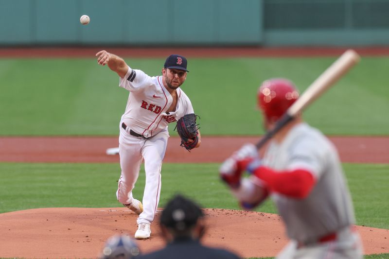
{"type": "MultiPolygon", "coordinates": [[[[182,88],[201,117],[202,134],[261,134],[255,108],[260,82],[287,77],[304,90],[335,59],[191,58],[182,88]]],[[[164,60],[126,61],[159,75],[164,60]]],[[[305,119],[325,134],[389,135],[387,70],[388,57],[362,58],[312,104],[305,119]]],[[[118,81],[116,73],[92,58],[0,59],[0,136],[117,135],[128,97],[118,81]]]]}

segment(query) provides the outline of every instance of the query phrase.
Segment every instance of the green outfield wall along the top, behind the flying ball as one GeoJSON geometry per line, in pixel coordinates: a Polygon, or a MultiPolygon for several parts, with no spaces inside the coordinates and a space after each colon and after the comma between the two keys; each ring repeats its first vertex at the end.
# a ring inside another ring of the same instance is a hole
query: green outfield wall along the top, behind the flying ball
{"type": "Polygon", "coordinates": [[[388,14],[389,0],[0,0],[0,45],[387,45],[388,14]]]}

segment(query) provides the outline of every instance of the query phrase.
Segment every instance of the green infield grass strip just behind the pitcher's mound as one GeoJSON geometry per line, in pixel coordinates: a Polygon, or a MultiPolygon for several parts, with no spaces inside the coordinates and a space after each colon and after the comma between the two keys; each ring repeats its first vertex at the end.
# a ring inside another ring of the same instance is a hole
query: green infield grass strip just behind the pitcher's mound
{"type": "MultiPolygon", "coordinates": [[[[203,207],[239,209],[218,164],[163,164],[160,207],[177,192],[203,207]]],[[[357,224],[389,229],[389,164],[344,164],[357,224]]],[[[38,207],[118,207],[119,164],[0,163],[0,213],[38,207]]],[[[144,171],[134,189],[141,198],[144,171]]],[[[268,200],[258,211],[276,213],[268,200]]]]}

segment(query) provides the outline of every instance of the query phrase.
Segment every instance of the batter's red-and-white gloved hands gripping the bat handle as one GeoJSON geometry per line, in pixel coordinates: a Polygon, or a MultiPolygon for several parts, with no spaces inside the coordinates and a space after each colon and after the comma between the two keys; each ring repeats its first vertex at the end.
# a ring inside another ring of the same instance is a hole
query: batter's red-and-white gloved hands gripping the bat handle
{"type": "Polygon", "coordinates": [[[254,144],[246,144],[227,158],[219,168],[220,177],[231,188],[240,186],[241,177],[249,164],[258,164],[258,151],[254,144]]]}

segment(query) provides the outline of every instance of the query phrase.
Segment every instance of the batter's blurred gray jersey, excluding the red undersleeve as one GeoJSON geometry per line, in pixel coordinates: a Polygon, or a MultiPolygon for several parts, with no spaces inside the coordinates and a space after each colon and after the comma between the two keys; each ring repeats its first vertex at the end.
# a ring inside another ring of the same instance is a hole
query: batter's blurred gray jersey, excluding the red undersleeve
{"type": "Polygon", "coordinates": [[[317,129],[297,124],[282,143],[270,142],[263,163],[277,171],[305,169],[316,178],[304,199],[272,194],[289,238],[313,242],[354,224],[354,208],[337,151],[317,129]]]}

